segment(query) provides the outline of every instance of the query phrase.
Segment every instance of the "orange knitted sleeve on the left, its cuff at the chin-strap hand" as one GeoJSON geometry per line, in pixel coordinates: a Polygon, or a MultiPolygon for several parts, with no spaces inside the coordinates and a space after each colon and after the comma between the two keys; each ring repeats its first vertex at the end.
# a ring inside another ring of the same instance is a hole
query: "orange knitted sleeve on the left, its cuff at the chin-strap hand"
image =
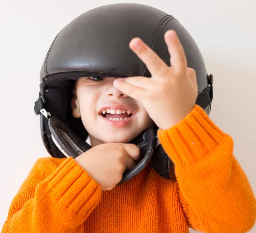
{"type": "Polygon", "coordinates": [[[73,158],[40,158],[13,199],[2,233],[83,232],[100,198],[100,185],[73,158]]]}

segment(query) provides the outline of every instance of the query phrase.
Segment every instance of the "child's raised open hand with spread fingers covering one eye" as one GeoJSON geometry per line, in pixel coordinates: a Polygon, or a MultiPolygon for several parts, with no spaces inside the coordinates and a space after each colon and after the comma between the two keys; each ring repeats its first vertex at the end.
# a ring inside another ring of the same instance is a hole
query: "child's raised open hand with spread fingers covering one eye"
{"type": "Polygon", "coordinates": [[[170,67],[140,38],[134,38],[129,46],[145,63],[151,78],[128,77],[122,81],[118,78],[113,85],[140,101],[159,128],[169,129],[194,108],[198,86],[195,70],[187,67],[187,58],[176,32],[167,31],[164,39],[171,56],[170,67]]]}

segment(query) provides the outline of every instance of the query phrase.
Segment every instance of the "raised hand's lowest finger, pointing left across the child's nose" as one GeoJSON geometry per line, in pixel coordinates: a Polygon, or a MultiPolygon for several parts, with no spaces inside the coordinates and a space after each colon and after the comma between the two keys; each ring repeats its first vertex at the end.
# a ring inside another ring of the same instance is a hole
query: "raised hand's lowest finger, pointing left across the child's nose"
{"type": "Polygon", "coordinates": [[[140,96],[142,95],[142,92],[145,91],[144,89],[133,86],[129,83],[125,83],[124,81],[120,80],[119,78],[117,78],[113,81],[113,86],[116,89],[119,89],[125,95],[128,95],[131,98],[134,98],[135,100],[139,100],[140,96]]]}

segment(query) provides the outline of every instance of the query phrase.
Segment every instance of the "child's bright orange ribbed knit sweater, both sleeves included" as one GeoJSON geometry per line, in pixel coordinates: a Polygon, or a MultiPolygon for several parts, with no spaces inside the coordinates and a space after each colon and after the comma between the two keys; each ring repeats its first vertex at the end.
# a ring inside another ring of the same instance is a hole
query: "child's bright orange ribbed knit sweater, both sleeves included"
{"type": "Polygon", "coordinates": [[[73,158],[40,158],[12,201],[2,233],[242,233],[256,220],[250,183],[233,140],[199,106],[159,130],[177,181],[151,167],[113,190],[73,158]]]}

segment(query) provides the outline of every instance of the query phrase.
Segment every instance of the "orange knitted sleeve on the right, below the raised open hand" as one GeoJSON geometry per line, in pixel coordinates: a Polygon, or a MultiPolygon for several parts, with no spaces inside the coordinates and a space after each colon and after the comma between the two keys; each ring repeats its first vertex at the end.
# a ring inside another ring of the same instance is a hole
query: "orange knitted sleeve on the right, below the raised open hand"
{"type": "Polygon", "coordinates": [[[158,131],[175,164],[188,224],[207,233],[244,233],[256,220],[250,183],[233,156],[233,140],[196,105],[182,121],[158,131]]]}

